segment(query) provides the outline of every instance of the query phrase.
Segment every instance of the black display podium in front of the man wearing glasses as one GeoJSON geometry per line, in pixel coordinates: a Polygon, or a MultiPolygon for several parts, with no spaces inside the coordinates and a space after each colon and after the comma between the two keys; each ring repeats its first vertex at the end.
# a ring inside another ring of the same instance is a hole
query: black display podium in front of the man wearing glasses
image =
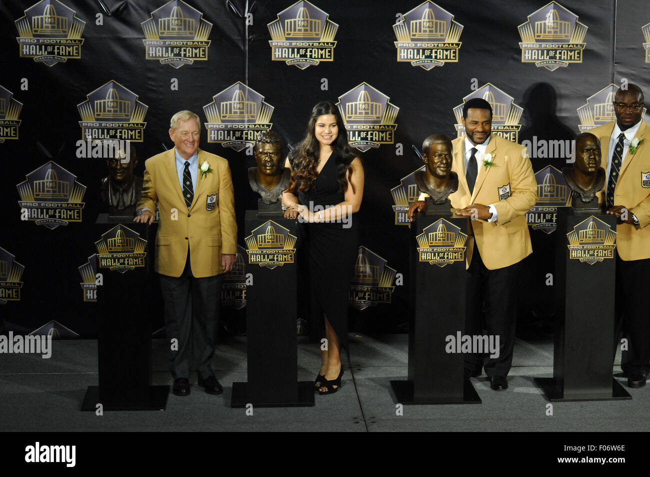
{"type": "Polygon", "coordinates": [[[535,378],[551,402],[631,399],[612,376],[616,216],[558,208],[553,377],[535,378]]]}

